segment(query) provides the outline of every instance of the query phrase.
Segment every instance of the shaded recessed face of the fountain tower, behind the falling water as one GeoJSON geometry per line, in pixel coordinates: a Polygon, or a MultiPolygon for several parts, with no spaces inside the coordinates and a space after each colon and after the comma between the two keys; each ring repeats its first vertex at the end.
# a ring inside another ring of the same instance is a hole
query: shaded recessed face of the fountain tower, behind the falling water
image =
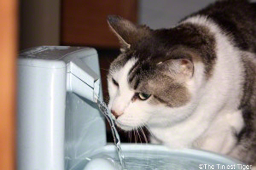
{"type": "MultiPolygon", "coordinates": [[[[81,55],[82,56],[82,55],[81,55]]],[[[100,75],[96,55],[79,57],[97,75],[100,75]]],[[[102,97],[100,88],[99,97],[102,97]]],[[[65,170],[73,170],[94,150],[106,145],[105,118],[92,101],[67,93],[65,121],[65,170]]]]}

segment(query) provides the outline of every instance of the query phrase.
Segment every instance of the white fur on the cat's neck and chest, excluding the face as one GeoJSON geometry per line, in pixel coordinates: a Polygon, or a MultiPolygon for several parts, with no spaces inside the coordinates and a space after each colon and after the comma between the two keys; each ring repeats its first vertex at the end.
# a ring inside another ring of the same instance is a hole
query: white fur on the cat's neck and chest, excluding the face
{"type": "Polygon", "coordinates": [[[164,128],[152,126],[150,129],[169,147],[199,147],[228,153],[235,142],[228,143],[224,139],[229,136],[229,140],[234,141],[233,130],[239,132],[244,123],[241,112],[236,109],[241,99],[243,80],[241,75],[243,68],[239,57],[241,54],[218,26],[206,17],[195,16],[183,23],[209,28],[215,35],[218,59],[212,77],[207,83],[202,77],[203,67],[195,65],[195,76],[188,83],[194,98],[187,106],[177,108],[177,114],[191,115],[174,126],[164,128]],[[188,107],[189,105],[191,107],[188,107]]]}

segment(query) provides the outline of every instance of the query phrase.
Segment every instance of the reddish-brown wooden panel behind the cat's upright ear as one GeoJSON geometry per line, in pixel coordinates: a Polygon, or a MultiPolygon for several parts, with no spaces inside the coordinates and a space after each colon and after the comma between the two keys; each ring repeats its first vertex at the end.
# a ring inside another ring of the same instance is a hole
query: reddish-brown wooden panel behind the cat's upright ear
{"type": "Polygon", "coordinates": [[[62,0],[61,44],[119,47],[109,14],[137,21],[137,0],[62,0]]]}

